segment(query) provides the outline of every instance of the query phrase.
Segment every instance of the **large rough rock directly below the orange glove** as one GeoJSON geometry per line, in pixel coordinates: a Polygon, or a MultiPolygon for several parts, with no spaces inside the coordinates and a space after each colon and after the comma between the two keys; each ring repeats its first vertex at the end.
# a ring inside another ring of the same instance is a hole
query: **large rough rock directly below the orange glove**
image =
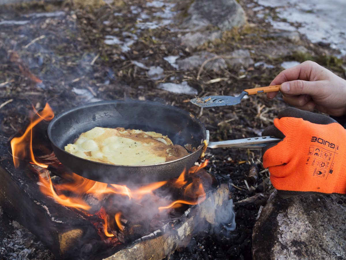
{"type": "Polygon", "coordinates": [[[346,259],[346,199],[273,192],[252,233],[253,259],[346,259]]]}

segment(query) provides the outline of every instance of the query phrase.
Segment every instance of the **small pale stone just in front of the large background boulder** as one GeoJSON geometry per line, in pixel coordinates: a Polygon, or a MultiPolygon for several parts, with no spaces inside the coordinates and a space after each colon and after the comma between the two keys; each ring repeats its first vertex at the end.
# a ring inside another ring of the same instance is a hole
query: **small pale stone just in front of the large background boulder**
{"type": "Polygon", "coordinates": [[[206,42],[212,42],[221,38],[221,31],[202,31],[202,32],[189,32],[181,37],[181,44],[194,49],[206,42]]]}

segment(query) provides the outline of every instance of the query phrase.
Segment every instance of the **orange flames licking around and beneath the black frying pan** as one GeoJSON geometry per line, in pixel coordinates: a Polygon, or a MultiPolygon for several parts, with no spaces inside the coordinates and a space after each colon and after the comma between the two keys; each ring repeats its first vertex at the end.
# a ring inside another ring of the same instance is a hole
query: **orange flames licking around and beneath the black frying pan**
{"type": "MultiPolygon", "coordinates": [[[[122,211],[123,209],[119,208],[115,209],[115,211],[112,209],[112,212],[116,212],[115,214],[108,213],[102,203],[100,204],[101,206],[95,211],[93,205],[88,202],[88,197],[91,197],[93,201],[97,200],[101,202],[103,199],[113,196],[112,198],[114,200],[133,200],[133,203],[142,206],[141,201],[143,202],[144,200],[151,198],[155,201],[155,194],[157,190],[163,187],[163,185],[167,184],[175,189],[178,189],[182,198],[175,201],[169,201],[168,198],[157,200],[158,202],[156,205],[158,211],[179,208],[184,204],[197,205],[206,199],[207,196],[206,192],[204,191],[203,184],[200,181],[200,177],[196,173],[201,168],[206,167],[208,161],[205,161],[198,166],[193,166],[188,171],[184,170],[177,179],[154,182],[135,189],[130,189],[126,185],[107,184],[92,181],[74,173],[63,173],[64,181],[61,183],[54,183],[50,177],[51,172],[48,169],[48,164],[38,162],[33,153],[34,127],[42,120],[52,120],[54,113],[48,104],[46,104],[42,111],[35,112],[36,115],[33,117],[33,119],[31,119],[30,124],[25,130],[24,134],[21,137],[15,137],[11,140],[13,163],[16,167],[18,167],[21,161],[29,159],[30,163],[33,164],[33,167],[38,173],[38,184],[40,191],[46,196],[52,197],[61,205],[74,208],[85,216],[97,215],[103,220],[102,232],[107,237],[115,237],[115,235],[111,232],[111,222],[114,223],[115,221],[119,231],[123,231],[124,226],[122,225],[122,222],[125,221],[126,223],[127,221],[122,214],[124,211],[122,211]],[[117,196],[121,196],[121,198],[117,196]]],[[[60,162],[55,163],[60,164],[60,162]]],[[[114,239],[116,239],[116,237],[114,239]]]]}

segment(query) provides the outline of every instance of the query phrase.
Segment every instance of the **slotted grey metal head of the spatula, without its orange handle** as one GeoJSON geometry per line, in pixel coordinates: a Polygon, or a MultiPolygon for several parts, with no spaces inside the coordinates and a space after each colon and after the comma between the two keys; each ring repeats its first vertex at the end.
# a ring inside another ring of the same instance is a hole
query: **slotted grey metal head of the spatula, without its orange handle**
{"type": "Polygon", "coordinates": [[[240,103],[240,100],[247,95],[247,92],[243,91],[239,96],[207,96],[196,97],[191,99],[191,103],[199,107],[211,107],[211,106],[234,106],[240,103]]]}

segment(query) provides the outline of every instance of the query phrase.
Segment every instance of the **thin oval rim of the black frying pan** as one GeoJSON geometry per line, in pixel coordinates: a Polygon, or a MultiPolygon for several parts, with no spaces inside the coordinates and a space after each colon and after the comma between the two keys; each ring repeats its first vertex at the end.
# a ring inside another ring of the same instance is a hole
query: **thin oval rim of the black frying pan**
{"type": "MultiPolygon", "coordinates": [[[[82,105],[79,105],[79,106],[75,106],[71,109],[68,109],[64,112],[61,112],[59,113],[58,115],[54,116],[54,118],[52,119],[51,122],[49,122],[49,125],[48,125],[48,129],[47,129],[47,133],[48,133],[48,138],[49,140],[52,142],[52,144],[57,148],[59,149],[60,151],[62,151],[63,153],[65,154],[68,154],[69,156],[72,156],[73,158],[76,158],[76,159],[79,159],[79,160],[82,160],[82,161],[85,161],[85,162],[92,162],[92,163],[95,163],[95,164],[98,164],[98,165],[108,165],[108,166],[120,166],[120,167],[147,167],[147,166],[156,166],[156,165],[165,165],[165,164],[169,164],[169,163],[173,163],[173,162],[177,162],[177,161],[180,161],[181,159],[184,159],[184,158],[188,158],[192,155],[194,155],[195,153],[198,153],[204,146],[203,144],[203,140],[202,140],[202,144],[200,146],[197,147],[197,150],[194,151],[193,153],[191,154],[188,154],[188,155],[185,155],[184,157],[181,157],[181,158],[178,158],[178,159],[175,159],[175,160],[172,160],[172,161],[169,161],[169,162],[164,162],[164,163],[156,163],[156,164],[143,164],[143,165],[120,165],[120,164],[110,164],[110,163],[101,163],[101,162],[96,162],[96,161],[92,161],[92,160],[88,160],[88,159],[84,159],[82,157],[78,157],[78,156],[75,156],[73,154],[70,154],[68,153],[67,151],[65,151],[64,149],[60,148],[54,141],[53,141],[53,138],[52,138],[52,127],[55,123],[55,121],[57,121],[59,118],[61,118],[62,116],[66,115],[66,114],[69,114],[71,112],[74,112],[76,110],[79,110],[79,109],[84,109],[86,107],[89,107],[89,106],[93,106],[95,104],[100,104],[100,105],[107,105],[107,104],[116,104],[116,103],[145,103],[145,104],[160,104],[162,106],[167,106],[167,107],[170,107],[170,109],[174,109],[176,111],[179,111],[179,112],[182,112],[182,113],[186,113],[186,114],[189,114],[189,115],[192,115],[191,113],[183,110],[183,109],[180,109],[178,107],[174,107],[174,106],[171,106],[171,105],[166,105],[166,104],[161,104],[161,103],[158,103],[158,102],[152,102],[152,101],[139,101],[139,100],[134,100],[134,99],[129,99],[129,100],[122,100],[122,99],[115,99],[115,100],[107,100],[107,101],[97,101],[97,102],[92,102],[92,103],[86,103],[86,104],[82,104],[82,105]]],[[[194,116],[194,115],[193,115],[194,116]]],[[[194,116],[195,117],[195,116],[194,116]]],[[[203,123],[195,117],[195,120],[197,121],[197,123],[201,126],[201,129],[202,129],[202,132],[203,132],[203,135],[206,136],[207,135],[207,132],[206,132],[206,128],[204,127],[203,123]]],[[[91,130],[91,129],[90,129],[91,130]]]]}

